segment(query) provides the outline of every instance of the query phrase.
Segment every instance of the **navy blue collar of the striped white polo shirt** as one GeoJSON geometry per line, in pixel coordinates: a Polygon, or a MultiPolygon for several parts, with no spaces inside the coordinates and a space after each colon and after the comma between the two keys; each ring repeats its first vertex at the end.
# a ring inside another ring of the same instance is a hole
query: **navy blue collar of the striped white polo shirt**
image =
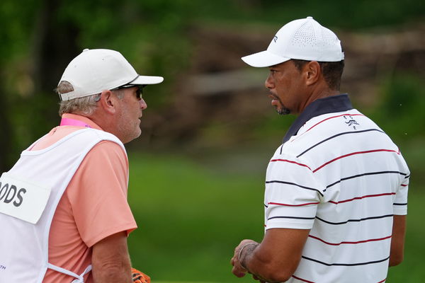
{"type": "Polygon", "coordinates": [[[351,105],[350,98],[348,98],[348,94],[346,93],[314,100],[312,103],[307,105],[304,111],[301,112],[300,116],[298,116],[293,124],[290,125],[288,132],[286,132],[285,137],[283,137],[283,143],[288,141],[290,137],[297,134],[300,127],[302,127],[302,125],[304,125],[305,122],[310,120],[312,117],[350,109],[353,109],[353,106],[351,105]]]}

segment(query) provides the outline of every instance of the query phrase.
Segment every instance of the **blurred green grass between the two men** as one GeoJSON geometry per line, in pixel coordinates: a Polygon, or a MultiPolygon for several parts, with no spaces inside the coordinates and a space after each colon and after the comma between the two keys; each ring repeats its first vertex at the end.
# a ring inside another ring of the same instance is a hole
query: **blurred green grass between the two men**
{"type": "Polygon", "coordinates": [[[263,178],[178,156],[132,154],[130,162],[133,265],[155,281],[234,282],[234,247],[263,235],[263,178]]]}

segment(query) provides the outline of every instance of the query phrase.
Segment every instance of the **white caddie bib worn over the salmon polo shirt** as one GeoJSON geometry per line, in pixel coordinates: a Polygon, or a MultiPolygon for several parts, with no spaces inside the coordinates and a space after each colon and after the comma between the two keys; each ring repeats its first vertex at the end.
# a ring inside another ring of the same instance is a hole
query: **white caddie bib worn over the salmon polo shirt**
{"type": "MultiPolygon", "coordinates": [[[[40,283],[47,268],[84,282],[83,274],[47,262],[50,224],[57,204],[86,154],[113,134],[81,129],[39,151],[23,151],[0,177],[0,283],[40,283]]],[[[32,146],[30,146],[31,148],[32,146]]],[[[125,151],[125,149],[124,149],[125,151]]]]}

